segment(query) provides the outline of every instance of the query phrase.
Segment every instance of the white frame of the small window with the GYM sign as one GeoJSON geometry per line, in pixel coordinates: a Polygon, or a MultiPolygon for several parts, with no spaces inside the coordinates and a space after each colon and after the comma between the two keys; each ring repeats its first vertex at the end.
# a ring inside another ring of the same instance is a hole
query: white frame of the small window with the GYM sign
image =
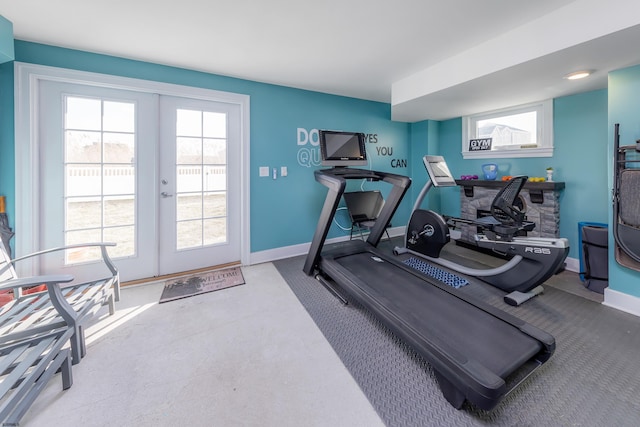
{"type": "Polygon", "coordinates": [[[464,159],[495,159],[515,157],[553,156],[553,100],[502,108],[462,118],[462,157],[464,159]],[[469,151],[469,140],[477,138],[478,121],[535,111],[537,113],[537,147],[500,150],[469,151]]]}

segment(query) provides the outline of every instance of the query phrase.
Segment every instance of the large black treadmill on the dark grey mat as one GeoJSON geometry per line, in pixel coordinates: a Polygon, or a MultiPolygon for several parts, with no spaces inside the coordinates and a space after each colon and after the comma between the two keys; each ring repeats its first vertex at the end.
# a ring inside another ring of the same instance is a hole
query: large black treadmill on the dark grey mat
{"type": "Polygon", "coordinates": [[[432,366],[447,401],[484,410],[545,363],[555,350],[548,333],[428,277],[377,248],[404,194],[408,177],[356,168],[315,171],[328,192],[304,272],[346,303],[358,301],[432,366]],[[324,247],[347,180],[393,187],[366,241],[324,247]],[[343,292],[340,292],[342,290],[343,292]]]}

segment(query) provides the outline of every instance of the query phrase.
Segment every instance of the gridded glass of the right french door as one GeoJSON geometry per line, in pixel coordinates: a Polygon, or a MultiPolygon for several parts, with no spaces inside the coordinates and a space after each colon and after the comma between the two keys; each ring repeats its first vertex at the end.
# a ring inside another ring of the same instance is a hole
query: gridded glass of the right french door
{"type": "Polygon", "coordinates": [[[178,109],[176,248],[227,242],[227,115],[178,109]]]}

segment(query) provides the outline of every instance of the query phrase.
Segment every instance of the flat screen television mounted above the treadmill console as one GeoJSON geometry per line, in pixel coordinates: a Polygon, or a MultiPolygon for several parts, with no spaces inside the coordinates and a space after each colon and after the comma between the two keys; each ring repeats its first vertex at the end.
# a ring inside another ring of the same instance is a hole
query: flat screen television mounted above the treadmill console
{"type": "Polygon", "coordinates": [[[364,134],[334,130],[318,131],[322,166],[366,166],[364,134]]]}

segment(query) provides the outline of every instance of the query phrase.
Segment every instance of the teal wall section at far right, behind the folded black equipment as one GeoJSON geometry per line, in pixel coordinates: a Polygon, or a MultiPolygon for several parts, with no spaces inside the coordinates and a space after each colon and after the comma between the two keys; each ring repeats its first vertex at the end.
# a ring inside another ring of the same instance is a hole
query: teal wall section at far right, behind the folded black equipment
{"type": "MultiPolygon", "coordinates": [[[[609,180],[613,189],[614,125],[620,124],[620,145],[632,145],[640,139],[640,66],[609,74],[609,180]]],[[[613,210],[609,210],[609,224],[613,224],[613,210]]],[[[640,272],[619,265],[613,253],[613,233],[609,227],[609,288],[640,297],[640,272]]]]}

